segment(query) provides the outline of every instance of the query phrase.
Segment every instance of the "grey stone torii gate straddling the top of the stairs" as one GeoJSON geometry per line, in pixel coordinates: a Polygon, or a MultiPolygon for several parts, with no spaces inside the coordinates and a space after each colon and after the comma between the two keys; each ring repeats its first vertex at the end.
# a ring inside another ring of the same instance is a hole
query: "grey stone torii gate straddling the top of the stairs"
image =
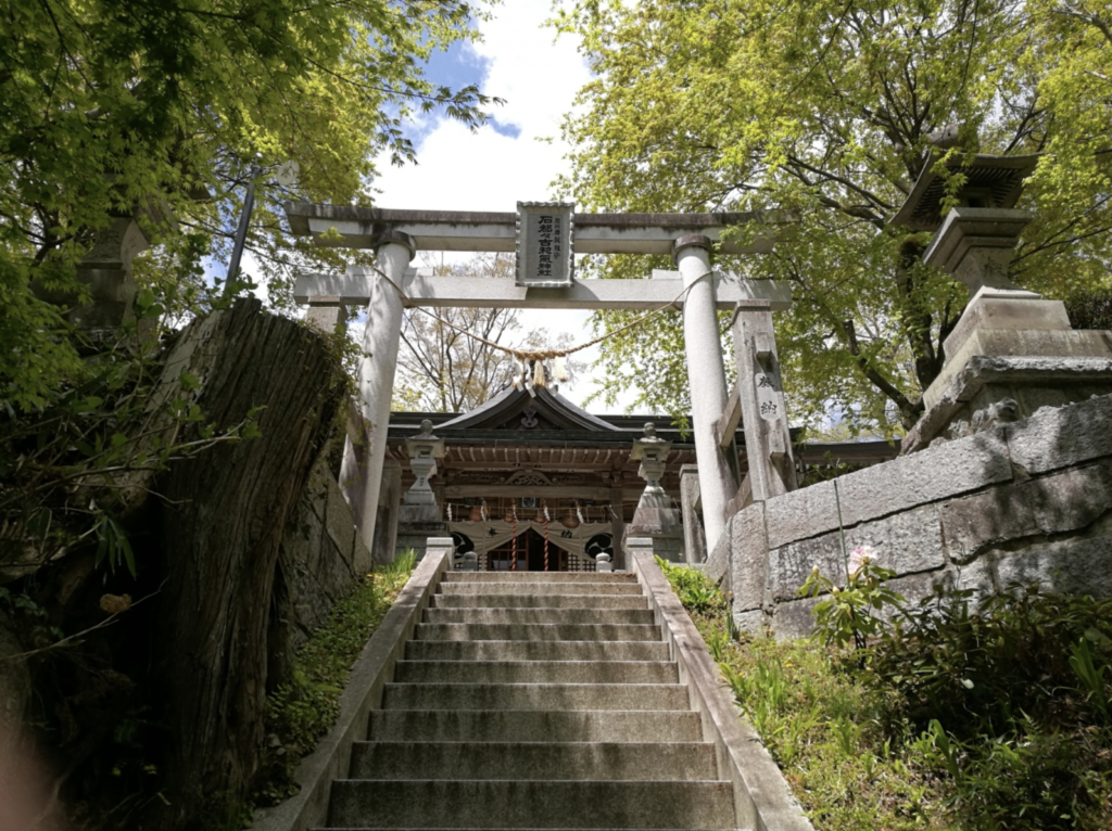
{"type": "MultiPolygon", "coordinates": [[[[698,484],[707,545],[713,550],[725,528],[727,503],[738,492],[723,449],[743,413],[753,498],[794,488],[794,478],[754,470],[756,464],[763,471],[783,473],[785,453],[791,465],[771,326],[771,312],[787,309],[791,292],[770,280],[745,281],[713,272],[708,257],[715,244],[724,253],[767,251],[767,241],[743,248],[722,239],[728,227],[762,218],[754,213],[573,214],[569,206],[552,206],[567,211],[565,216],[574,223],[574,253],[671,254],[678,271],[655,270],[648,280],[570,280],[560,288],[538,288],[499,278],[438,277],[409,268],[418,249],[514,251],[522,207],[518,213],[480,213],[297,202],[286,204],[286,216],[295,234],[314,237],[319,246],[375,250],[378,268],[415,306],[652,310],[671,303],[686,289],[675,306],[684,316],[698,484]],[[719,310],[735,311],[739,387],[732,394],[726,390],[718,338],[719,310]]],[[[405,301],[387,280],[363,267],[348,267],[344,274],[304,274],[294,296],[316,309],[310,313],[326,327],[338,322],[336,317],[331,321],[321,317],[329,307],[367,309],[358,388],[368,435],[366,441],[348,441],[341,485],[363,539],[371,548],[405,301]]]]}

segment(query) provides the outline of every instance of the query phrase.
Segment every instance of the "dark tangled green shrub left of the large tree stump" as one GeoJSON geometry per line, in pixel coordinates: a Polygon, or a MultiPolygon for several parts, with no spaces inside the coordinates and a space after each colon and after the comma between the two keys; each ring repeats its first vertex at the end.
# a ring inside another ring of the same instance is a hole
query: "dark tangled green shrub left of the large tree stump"
{"type": "Polygon", "coordinates": [[[162,384],[153,333],[165,298],[136,296],[136,320],[73,368],[68,381],[26,411],[0,389],[0,565],[29,573],[90,545],[96,564],[138,574],[128,515],[171,461],[226,441],[255,438],[258,410],[218,430],[193,401],[200,381],[181,372],[162,384]],[[158,389],[163,400],[153,401],[158,389]]]}

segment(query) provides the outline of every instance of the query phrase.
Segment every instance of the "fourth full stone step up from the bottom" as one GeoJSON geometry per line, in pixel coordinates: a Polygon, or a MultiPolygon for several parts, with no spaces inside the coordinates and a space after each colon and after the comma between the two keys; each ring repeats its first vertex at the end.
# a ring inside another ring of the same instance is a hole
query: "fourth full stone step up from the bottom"
{"type": "Polygon", "coordinates": [[[390,682],[384,710],[687,710],[684,684],[406,684],[390,682]]]}

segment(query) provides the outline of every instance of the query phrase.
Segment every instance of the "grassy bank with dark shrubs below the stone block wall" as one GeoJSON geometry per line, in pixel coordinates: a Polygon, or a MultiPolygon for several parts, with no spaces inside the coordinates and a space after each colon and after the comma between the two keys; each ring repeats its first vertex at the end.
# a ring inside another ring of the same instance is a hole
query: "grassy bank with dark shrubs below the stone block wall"
{"type": "Polygon", "coordinates": [[[664,570],[817,831],[1112,828],[1108,601],[940,593],[858,649],[738,637],[706,578],[664,570]]]}

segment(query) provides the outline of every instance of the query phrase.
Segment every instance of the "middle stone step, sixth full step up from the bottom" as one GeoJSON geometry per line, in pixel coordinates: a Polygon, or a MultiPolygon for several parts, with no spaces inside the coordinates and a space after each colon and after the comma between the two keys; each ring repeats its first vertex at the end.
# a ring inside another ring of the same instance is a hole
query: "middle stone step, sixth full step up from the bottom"
{"type": "Polygon", "coordinates": [[[409,661],[667,661],[661,641],[409,641],[409,661]]]}

